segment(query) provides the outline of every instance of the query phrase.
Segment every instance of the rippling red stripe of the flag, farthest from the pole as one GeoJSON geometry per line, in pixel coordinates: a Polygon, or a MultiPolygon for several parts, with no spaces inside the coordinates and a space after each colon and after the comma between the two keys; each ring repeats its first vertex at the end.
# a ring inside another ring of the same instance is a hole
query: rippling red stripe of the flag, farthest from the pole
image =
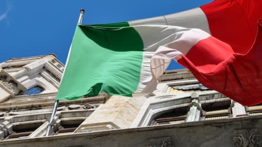
{"type": "Polygon", "coordinates": [[[202,6],[213,37],[199,41],[179,60],[203,85],[243,105],[262,103],[261,6],[262,0],[217,0],[202,6]]]}

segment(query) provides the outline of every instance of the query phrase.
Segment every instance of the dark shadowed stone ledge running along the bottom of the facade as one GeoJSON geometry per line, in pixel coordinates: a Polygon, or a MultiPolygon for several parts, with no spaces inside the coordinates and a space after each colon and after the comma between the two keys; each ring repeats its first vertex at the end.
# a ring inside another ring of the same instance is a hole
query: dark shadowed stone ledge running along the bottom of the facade
{"type": "MultiPolygon", "coordinates": [[[[241,132],[236,129],[247,127],[245,124],[252,124],[257,129],[246,131],[253,131],[254,135],[260,135],[258,132],[261,130],[261,122],[262,116],[250,116],[249,118],[236,117],[223,120],[187,122],[176,125],[84,132],[50,137],[24,138],[12,141],[3,140],[0,141],[0,146],[14,147],[19,143],[19,146],[23,147],[44,147],[54,146],[54,142],[59,144],[59,146],[234,146],[234,132],[235,135],[242,134],[247,139],[249,137],[249,135],[246,136],[245,131],[241,132]]],[[[257,140],[255,138],[257,136],[251,137],[252,140],[257,140]]],[[[256,147],[255,145],[253,146],[256,147]]]]}

